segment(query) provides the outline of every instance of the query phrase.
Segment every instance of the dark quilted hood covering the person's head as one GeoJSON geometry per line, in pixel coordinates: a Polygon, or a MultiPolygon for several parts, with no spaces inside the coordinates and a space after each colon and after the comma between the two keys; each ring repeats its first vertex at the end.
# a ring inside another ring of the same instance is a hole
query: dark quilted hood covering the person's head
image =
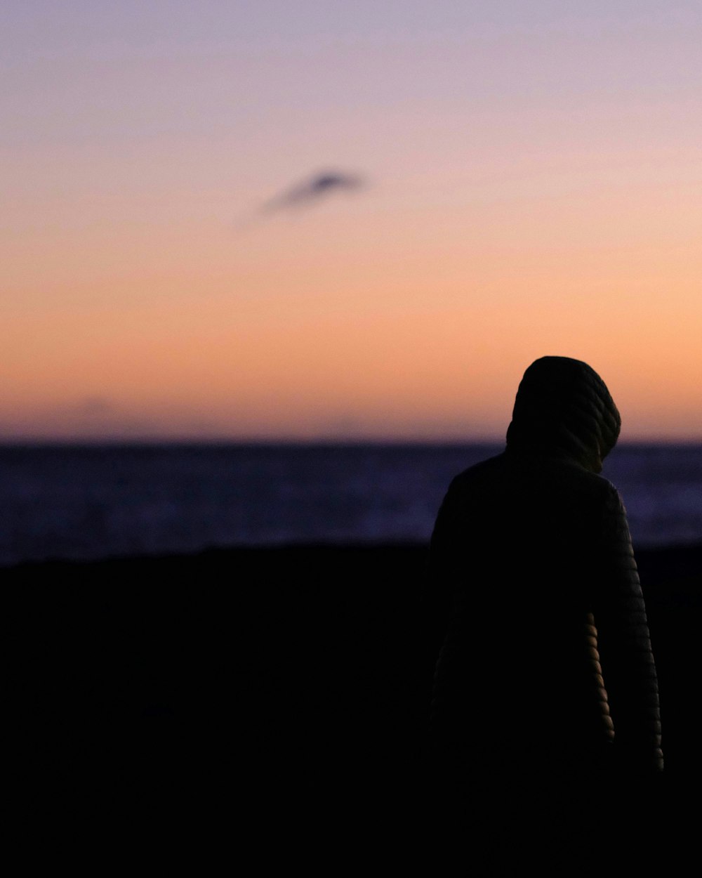
{"type": "Polygon", "coordinates": [[[519,384],[507,449],[562,457],[599,472],[620,427],[612,396],[591,366],[568,356],[542,356],[519,384]]]}

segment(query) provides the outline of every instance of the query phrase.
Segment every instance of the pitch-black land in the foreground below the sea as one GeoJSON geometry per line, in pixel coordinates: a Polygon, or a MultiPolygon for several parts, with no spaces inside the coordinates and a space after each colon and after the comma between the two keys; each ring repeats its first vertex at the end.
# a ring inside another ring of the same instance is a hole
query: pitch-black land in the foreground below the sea
{"type": "MultiPolygon", "coordinates": [[[[656,828],[674,857],[698,824],[702,546],[637,560],[662,700],[656,828]]],[[[0,571],[11,810],[76,839],[161,831],[170,848],[262,833],[264,859],[340,831],[410,850],[432,809],[425,561],[414,545],[297,547],[0,571]]]]}

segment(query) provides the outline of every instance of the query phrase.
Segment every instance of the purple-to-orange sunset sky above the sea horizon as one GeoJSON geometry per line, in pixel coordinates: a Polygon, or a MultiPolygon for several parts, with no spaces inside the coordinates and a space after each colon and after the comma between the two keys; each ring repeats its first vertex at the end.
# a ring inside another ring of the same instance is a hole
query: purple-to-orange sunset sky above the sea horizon
{"type": "Polygon", "coordinates": [[[501,438],[555,354],[702,440],[698,2],[6,0],[0,68],[0,438],[501,438]]]}

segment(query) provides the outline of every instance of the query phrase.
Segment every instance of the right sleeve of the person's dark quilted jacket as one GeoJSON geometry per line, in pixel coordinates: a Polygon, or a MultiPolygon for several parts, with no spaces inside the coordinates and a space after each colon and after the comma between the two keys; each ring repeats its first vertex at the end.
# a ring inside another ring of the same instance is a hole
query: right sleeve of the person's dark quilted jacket
{"type": "Polygon", "coordinates": [[[614,751],[620,766],[634,774],[661,771],[655,661],[627,514],[614,486],[603,512],[601,564],[593,609],[614,724],[614,751]]]}

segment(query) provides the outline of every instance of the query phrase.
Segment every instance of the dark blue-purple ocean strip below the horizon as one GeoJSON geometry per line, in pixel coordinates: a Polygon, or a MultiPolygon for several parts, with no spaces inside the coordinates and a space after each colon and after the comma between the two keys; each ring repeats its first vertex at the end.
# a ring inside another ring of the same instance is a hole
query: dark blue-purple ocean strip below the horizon
{"type": "MultiPolygon", "coordinates": [[[[487,444],[0,447],[0,565],[292,543],[426,542],[487,444]]],[[[621,445],[634,548],[702,543],[702,445],[621,445]]]]}

